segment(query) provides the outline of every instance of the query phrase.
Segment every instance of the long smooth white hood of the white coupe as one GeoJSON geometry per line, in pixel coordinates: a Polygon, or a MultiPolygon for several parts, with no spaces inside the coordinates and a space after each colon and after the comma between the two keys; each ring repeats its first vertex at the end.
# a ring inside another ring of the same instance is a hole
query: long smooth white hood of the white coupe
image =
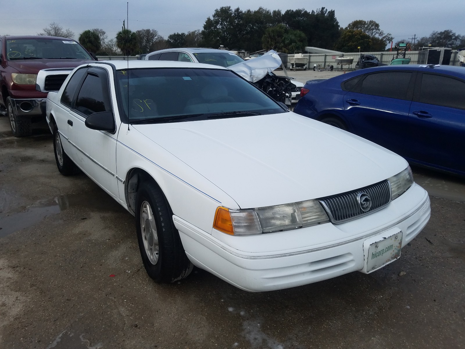
{"type": "Polygon", "coordinates": [[[291,112],[133,128],[213,182],[240,208],[339,194],[407,167],[385,148],[291,112]]]}

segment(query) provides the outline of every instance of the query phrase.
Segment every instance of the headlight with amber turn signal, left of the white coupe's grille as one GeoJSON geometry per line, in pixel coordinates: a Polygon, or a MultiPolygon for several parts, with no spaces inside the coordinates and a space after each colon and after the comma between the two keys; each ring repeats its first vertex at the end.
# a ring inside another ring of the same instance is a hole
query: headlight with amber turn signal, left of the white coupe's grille
{"type": "Polygon", "coordinates": [[[328,221],[328,215],[320,203],[307,200],[241,210],[219,207],[213,228],[231,235],[251,235],[304,228],[328,221]]]}

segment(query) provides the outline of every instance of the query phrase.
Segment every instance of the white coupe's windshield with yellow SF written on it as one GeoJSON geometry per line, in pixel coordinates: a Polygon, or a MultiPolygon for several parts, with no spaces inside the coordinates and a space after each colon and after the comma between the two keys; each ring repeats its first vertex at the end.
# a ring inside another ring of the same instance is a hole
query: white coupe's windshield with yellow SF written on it
{"type": "Polygon", "coordinates": [[[130,123],[285,112],[261,90],[229,70],[145,68],[119,70],[116,75],[119,101],[130,123]]]}

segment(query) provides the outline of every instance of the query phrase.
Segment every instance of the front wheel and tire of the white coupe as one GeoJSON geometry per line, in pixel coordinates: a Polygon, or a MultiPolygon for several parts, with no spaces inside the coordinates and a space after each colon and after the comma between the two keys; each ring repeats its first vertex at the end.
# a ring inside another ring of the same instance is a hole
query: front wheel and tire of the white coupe
{"type": "Polygon", "coordinates": [[[140,256],[155,282],[175,282],[192,271],[173,213],[153,181],[142,182],[136,195],[136,227],[140,256]]]}

